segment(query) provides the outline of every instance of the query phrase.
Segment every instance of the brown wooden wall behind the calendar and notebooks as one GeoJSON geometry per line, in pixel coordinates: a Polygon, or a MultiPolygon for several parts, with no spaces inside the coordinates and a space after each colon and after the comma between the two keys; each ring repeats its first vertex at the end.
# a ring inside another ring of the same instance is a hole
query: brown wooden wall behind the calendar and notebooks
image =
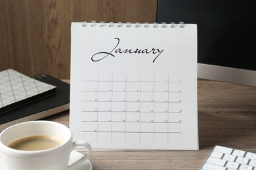
{"type": "Polygon", "coordinates": [[[156,22],[157,0],[0,0],[0,71],[70,78],[71,22],[156,22]]]}

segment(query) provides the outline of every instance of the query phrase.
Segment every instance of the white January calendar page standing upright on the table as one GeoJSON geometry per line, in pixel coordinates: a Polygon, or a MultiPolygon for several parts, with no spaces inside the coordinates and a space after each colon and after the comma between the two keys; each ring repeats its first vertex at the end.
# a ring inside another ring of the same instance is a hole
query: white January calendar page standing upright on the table
{"type": "Polygon", "coordinates": [[[197,150],[197,26],[72,23],[70,129],[94,149],[197,150]]]}

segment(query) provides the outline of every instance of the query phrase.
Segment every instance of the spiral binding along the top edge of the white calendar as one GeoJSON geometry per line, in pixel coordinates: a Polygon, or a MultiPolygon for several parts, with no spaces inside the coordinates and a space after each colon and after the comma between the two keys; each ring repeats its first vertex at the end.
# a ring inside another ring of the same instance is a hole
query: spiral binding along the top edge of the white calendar
{"type": "MultiPolygon", "coordinates": [[[[82,24],[83,27],[87,27],[88,25],[89,25],[88,22],[83,22],[83,24],[82,24]]],[[[91,27],[95,27],[96,25],[99,25],[100,27],[114,27],[115,23],[114,22],[96,23],[95,21],[91,22],[91,27]]],[[[127,22],[126,24],[124,24],[123,22],[117,22],[117,27],[123,27],[124,25],[126,27],[132,27],[133,24],[131,24],[131,22],[127,22]]],[[[147,27],[150,27],[150,26],[155,27],[155,28],[157,28],[157,27],[163,27],[163,28],[181,27],[181,28],[184,28],[185,24],[184,24],[184,22],[179,22],[179,24],[175,24],[175,22],[171,22],[170,24],[167,24],[166,22],[162,22],[161,24],[158,24],[157,22],[154,22],[153,24],[149,24],[148,22],[145,22],[144,24],[140,24],[140,22],[135,22],[135,27],[146,27],[147,28],[147,27]]]]}

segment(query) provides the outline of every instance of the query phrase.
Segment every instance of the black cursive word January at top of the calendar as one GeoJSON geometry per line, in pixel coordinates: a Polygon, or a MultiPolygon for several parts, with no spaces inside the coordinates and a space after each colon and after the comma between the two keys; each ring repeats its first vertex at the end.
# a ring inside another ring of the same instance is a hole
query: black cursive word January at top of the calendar
{"type": "Polygon", "coordinates": [[[92,61],[100,61],[108,56],[112,56],[112,57],[115,57],[114,54],[156,54],[156,58],[154,58],[153,60],[153,63],[156,61],[156,59],[160,56],[160,54],[163,52],[163,50],[160,50],[160,49],[156,49],[156,48],[152,48],[151,50],[150,49],[138,49],[136,48],[135,50],[133,49],[124,49],[122,50],[121,48],[117,48],[120,40],[119,38],[115,38],[117,40],[117,44],[116,46],[113,48],[112,51],[110,52],[97,52],[96,54],[94,54],[92,57],[91,57],[91,60],[92,61]],[[102,54],[104,54],[102,56],[102,54]]]}

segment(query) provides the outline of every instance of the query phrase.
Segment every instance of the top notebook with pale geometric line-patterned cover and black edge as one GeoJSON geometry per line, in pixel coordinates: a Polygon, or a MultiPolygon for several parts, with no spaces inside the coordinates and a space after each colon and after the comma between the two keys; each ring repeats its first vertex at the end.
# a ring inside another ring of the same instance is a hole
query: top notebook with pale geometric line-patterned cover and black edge
{"type": "Polygon", "coordinates": [[[0,72],[0,114],[56,93],[56,86],[7,69],[0,72]]]}

